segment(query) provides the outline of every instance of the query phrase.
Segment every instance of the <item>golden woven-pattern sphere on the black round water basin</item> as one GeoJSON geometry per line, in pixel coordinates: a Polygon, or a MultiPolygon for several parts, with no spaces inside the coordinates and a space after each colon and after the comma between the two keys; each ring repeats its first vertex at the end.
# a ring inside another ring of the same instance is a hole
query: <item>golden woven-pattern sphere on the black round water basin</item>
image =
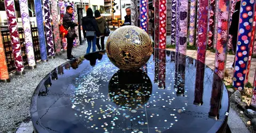
{"type": "Polygon", "coordinates": [[[147,32],[139,27],[124,26],[108,37],[106,52],[119,69],[135,70],[147,63],[153,48],[147,32]]]}

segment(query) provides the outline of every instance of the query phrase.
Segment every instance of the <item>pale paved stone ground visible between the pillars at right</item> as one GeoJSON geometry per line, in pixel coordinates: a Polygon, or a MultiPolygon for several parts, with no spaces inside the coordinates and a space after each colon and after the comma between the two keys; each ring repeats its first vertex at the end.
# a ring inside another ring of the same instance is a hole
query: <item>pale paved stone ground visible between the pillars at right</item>
{"type": "MultiPolygon", "coordinates": [[[[175,49],[170,49],[170,51],[175,51],[175,49]]],[[[197,56],[197,51],[195,50],[187,50],[186,55],[193,57],[196,59],[197,56]]],[[[235,55],[227,55],[227,62],[226,62],[226,70],[229,74],[229,76],[233,77],[233,71],[234,69],[229,68],[234,62],[235,55]]],[[[206,52],[206,59],[205,59],[205,64],[209,66],[212,70],[214,70],[214,64],[215,63],[215,53],[207,51],[206,52]]],[[[253,80],[254,80],[254,74],[256,70],[256,59],[253,58],[251,62],[251,68],[249,72],[249,82],[253,85],[253,80]]]]}

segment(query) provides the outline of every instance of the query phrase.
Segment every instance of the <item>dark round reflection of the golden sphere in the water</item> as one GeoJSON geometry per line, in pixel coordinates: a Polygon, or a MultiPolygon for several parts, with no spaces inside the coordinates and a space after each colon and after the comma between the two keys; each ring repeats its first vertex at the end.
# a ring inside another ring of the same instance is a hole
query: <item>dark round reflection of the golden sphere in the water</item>
{"type": "Polygon", "coordinates": [[[125,109],[143,107],[151,93],[151,81],[142,70],[131,72],[118,70],[109,81],[111,101],[115,102],[119,107],[125,107],[125,109]]]}

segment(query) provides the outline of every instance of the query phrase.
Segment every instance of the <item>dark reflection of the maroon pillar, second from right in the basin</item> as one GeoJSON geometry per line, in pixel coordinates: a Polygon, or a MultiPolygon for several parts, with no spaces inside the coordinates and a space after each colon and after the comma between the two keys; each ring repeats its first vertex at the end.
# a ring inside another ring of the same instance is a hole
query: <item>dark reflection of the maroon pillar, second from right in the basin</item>
{"type": "Polygon", "coordinates": [[[204,93],[204,64],[196,61],[196,85],[195,85],[195,99],[194,104],[203,105],[203,93],[204,93]]]}

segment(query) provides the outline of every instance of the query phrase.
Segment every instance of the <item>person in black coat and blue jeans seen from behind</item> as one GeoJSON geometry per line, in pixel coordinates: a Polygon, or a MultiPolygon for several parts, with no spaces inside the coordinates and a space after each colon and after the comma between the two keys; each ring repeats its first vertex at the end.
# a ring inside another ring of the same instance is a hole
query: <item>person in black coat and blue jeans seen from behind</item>
{"type": "Polygon", "coordinates": [[[95,52],[96,51],[96,39],[97,39],[97,37],[100,37],[100,30],[99,30],[97,21],[93,16],[93,11],[91,8],[87,9],[86,16],[84,16],[82,19],[82,25],[83,25],[84,36],[88,43],[86,54],[90,53],[91,46],[92,46],[92,52],[95,52]],[[94,36],[86,35],[85,31],[86,32],[94,31],[94,36]]]}

